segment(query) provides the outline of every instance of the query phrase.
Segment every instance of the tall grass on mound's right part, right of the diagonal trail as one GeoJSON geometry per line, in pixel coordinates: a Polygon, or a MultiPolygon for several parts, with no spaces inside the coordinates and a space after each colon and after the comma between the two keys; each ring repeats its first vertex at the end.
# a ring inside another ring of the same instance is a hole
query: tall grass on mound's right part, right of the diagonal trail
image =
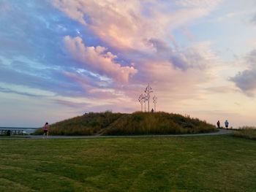
{"type": "Polygon", "coordinates": [[[217,128],[197,118],[167,112],[135,112],[119,118],[102,130],[102,134],[196,134],[211,131],[217,131],[217,128]]]}

